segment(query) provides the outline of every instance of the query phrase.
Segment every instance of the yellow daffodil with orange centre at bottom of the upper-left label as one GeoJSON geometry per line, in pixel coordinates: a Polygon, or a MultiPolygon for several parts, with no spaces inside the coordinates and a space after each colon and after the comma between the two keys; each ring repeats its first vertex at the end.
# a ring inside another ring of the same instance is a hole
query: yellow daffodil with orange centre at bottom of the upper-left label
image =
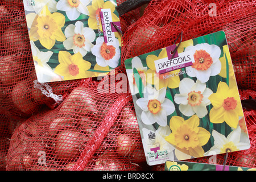
{"type": "Polygon", "coordinates": [[[55,68],[55,73],[64,77],[64,80],[75,80],[88,77],[86,71],[90,69],[91,64],[82,59],[81,53],[71,55],[66,51],[59,52],[59,62],[55,68]]]}

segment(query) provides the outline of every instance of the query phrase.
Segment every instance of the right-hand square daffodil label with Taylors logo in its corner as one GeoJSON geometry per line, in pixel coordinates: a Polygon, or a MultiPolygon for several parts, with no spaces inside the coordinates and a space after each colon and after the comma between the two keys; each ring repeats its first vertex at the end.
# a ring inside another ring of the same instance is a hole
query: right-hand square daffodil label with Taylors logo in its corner
{"type": "Polygon", "coordinates": [[[148,165],[250,148],[225,32],[176,46],[125,60],[148,165]]]}

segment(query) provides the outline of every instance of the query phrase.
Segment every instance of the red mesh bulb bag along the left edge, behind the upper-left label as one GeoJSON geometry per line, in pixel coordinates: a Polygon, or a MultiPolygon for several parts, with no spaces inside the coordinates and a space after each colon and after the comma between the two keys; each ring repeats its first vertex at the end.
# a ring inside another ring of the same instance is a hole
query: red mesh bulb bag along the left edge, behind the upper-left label
{"type": "Polygon", "coordinates": [[[50,82],[49,89],[39,83],[35,87],[37,78],[23,1],[0,2],[0,34],[0,109],[6,115],[24,119],[42,105],[54,108],[57,105],[55,95],[63,98],[73,88],[90,80],[50,82]]]}

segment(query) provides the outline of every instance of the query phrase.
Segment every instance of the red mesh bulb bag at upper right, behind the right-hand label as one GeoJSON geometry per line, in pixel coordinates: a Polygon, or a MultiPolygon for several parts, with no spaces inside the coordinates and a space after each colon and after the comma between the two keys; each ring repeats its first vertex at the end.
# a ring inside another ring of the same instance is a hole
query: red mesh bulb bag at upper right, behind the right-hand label
{"type": "MultiPolygon", "coordinates": [[[[242,0],[153,0],[126,29],[122,60],[170,46],[181,31],[184,41],[222,30],[226,33],[238,86],[255,89],[255,6],[256,1],[242,0]]],[[[126,22],[129,15],[122,19],[126,22]]]]}

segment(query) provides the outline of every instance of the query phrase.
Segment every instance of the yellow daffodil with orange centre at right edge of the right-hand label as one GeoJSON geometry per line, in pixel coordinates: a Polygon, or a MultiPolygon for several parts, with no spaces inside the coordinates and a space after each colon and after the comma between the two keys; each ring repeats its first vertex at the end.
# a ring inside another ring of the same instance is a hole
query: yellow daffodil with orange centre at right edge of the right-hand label
{"type": "Polygon", "coordinates": [[[217,92],[210,95],[208,99],[213,105],[210,110],[210,122],[226,122],[230,127],[236,128],[239,117],[243,116],[237,88],[229,88],[225,82],[220,82],[217,92]]]}

